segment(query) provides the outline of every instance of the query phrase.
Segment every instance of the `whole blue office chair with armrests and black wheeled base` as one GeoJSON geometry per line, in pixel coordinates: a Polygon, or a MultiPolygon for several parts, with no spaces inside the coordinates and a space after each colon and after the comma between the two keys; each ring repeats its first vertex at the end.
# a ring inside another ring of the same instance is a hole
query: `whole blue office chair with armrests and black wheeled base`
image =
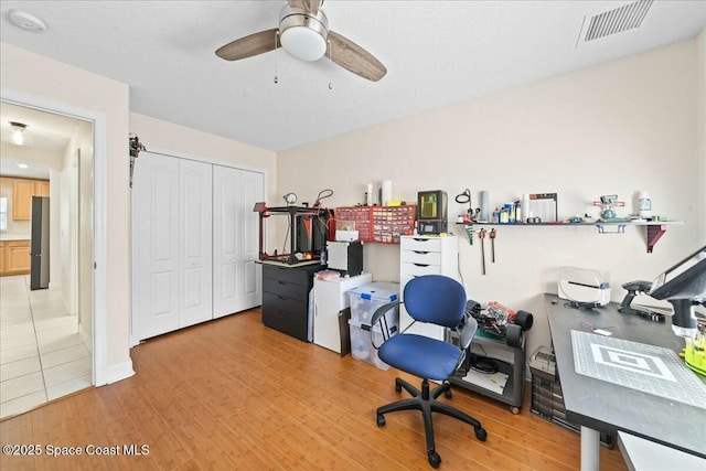
{"type": "Polygon", "coordinates": [[[459,334],[459,345],[424,335],[405,333],[408,328],[397,335],[391,336],[384,314],[400,301],[378,308],[371,319],[371,324],[375,325],[379,322],[384,332],[384,342],[379,345],[378,351],[379,358],[395,368],[421,377],[422,381],[421,390],[419,390],[408,382],[395,378],[395,390],[402,393],[402,389],[405,388],[413,397],[379,407],[377,409],[377,426],[385,425],[385,414],[387,413],[421,410],[429,464],[438,468],[441,463],[441,457],[436,452],[434,446],[431,413],[445,414],[469,424],[473,427],[475,437],[481,441],[485,441],[488,438],[480,421],[437,400],[441,394],[446,398],[451,397],[451,385],[448,378],[463,362],[478,323],[475,319],[466,313],[466,290],[458,281],[449,277],[426,275],[414,278],[405,286],[403,299],[402,302],[415,322],[428,322],[456,330],[459,334]],[[429,379],[442,383],[429,392],[429,379]]]}

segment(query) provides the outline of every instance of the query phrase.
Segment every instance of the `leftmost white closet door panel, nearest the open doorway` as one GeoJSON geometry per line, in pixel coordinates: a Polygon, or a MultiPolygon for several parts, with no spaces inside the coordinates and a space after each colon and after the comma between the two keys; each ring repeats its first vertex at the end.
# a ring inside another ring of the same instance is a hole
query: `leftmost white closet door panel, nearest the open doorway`
{"type": "Polygon", "coordinates": [[[146,153],[137,161],[132,207],[141,340],[179,328],[179,160],[146,153]]]}

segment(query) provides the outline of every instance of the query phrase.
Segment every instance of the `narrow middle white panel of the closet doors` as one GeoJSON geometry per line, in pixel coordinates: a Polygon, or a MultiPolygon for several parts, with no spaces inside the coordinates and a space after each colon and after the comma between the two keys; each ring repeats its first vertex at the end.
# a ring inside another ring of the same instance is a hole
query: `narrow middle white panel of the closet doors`
{"type": "Polygon", "coordinates": [[[212,165],[179,161],[179,327],[213,319],[212,165]]]}

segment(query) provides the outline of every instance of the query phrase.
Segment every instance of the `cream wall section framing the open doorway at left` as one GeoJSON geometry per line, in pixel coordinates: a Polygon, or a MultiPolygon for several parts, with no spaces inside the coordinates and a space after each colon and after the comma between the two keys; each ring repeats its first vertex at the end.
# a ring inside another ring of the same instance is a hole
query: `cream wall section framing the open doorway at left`
{"type": "MultiPolygon", "coordinates": [[[[109,178],[105,186],[105,299],[97,300],[106,307],[107,345],[105,362],[107,373],[98,382],[110,382],[132,372],[128,349],[129,304],[129,189],[127,139],[129,87],[126,84],[101,77],[29,51],[1,43],[0,84],[44,103],[55,103],[71,108],[89,110],[107,120],[105,172],[109,178]]],[[[4,96],[4,95],[3,95],[4,96]]],[[[97,204],[101,202],[96,202],[97,204]]],[[[103,263],[103,260],[101,260],[103,263]]],[[[99,383],[100,384],[100,383],[99,383]]]]}

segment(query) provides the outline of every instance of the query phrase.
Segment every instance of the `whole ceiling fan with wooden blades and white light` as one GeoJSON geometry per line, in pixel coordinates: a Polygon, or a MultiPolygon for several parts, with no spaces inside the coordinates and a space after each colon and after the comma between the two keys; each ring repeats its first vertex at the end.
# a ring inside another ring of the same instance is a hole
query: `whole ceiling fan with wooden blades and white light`
{"type": "Polygon", "coordinates": [[[347,38],[329,30],[321,10],[323,0],[287,0],[279,13],[279,28],[235,40],[216,50],[226,61],[239,61],[282,47],[295,58],[317,61],[324,55],[341,67],[377,82],[387,68],[373,54],[347,38]]]}

